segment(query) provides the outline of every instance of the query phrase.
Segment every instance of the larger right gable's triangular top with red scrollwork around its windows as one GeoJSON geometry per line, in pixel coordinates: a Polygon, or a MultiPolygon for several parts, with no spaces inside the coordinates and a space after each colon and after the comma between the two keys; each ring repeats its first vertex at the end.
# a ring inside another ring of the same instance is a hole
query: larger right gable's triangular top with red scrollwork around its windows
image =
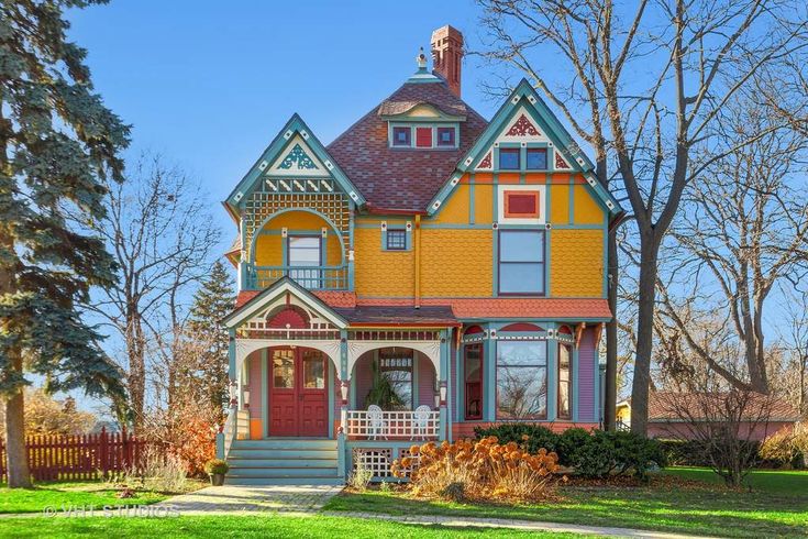
{"type": "MultiPolygon", "coordinates": [[[[431,200],[428,213],[432,216],[440,211],[449,196],[456,190],[464,174],[491,173],[500,169],[499,152],[502,148],[508,148],[509,152],[520,151],[520,161],[524,160],[529,148],[535,148],[534,152],[541,152],[538,156],[544,155],[543,158],[546,160],[546,166],[536,169],[536,173],[580,174],[586,180],[586,188],[591,190],[597,204],[605,211],[610,215],[622,212],[618,201],[595,177],[593,163],[539,98],[535,90],[523,79],[463,156],[454,174],[431,200]]],[[[522,174],[524,173],[522,169],[522,174]]]]}

